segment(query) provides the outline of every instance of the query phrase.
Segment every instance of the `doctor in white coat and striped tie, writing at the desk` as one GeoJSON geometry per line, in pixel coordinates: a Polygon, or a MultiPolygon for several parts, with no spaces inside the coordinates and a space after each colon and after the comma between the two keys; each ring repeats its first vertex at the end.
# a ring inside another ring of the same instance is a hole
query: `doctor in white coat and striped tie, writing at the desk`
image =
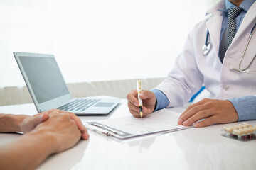
{"type": "MultiPolygon", "coordinates": [[[[255,24],[255,0],[221,0],[211,8],[189,33],[168,77],[155,89],[142,91],[143,116],[161,108],[185,105],[204,85],[210,98],[188,106],[178,119],[179,125],[194,123],[195,127],[204,127],[256,120],[256,28],[252,29],[255,24]],[[228,27],[227,12],[238,6],[242,11],[235,18],[235,37],[221,61],[219,49],[228,27]],[[202,50],[208,43],[210,50],[202,50]],[[201,119],[204,120],[196,123],[201,119]]],[[[130,91],[127,100],[130,113],[139,118],[137,91],[130,91]]]]}

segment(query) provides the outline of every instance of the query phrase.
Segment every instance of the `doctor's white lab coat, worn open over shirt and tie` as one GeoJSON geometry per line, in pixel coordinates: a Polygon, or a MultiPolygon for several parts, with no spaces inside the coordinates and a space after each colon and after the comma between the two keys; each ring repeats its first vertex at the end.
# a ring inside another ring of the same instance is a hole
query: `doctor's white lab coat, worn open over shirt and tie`
{"type": "MultiPolygon", "coordinates": [[[[256,60],[252,63],[250,73],[235,72],[238,62],[249,38],[252,27],[256,23],[256,2],[247,11],[235,38],[225,53],[223,64],[218,57],[220,30],[223,22],[222,12],[225,1],[220,1],[211,8],[206,18],[198,23],[189,33],[183,51],[178,55],[174,68],[168,77],[156,87],[166,94],[171,106],[183,106],[191,96],[204,84],[210,92],[210,98],[228,99],[256,94],[256,60]],[[202,47],[209,30],[209,42],[212,47],[204,56],[202,47]]],[[[256,34],[252,36],[242,68],[247,67],[256,55],[256,34]]]]}

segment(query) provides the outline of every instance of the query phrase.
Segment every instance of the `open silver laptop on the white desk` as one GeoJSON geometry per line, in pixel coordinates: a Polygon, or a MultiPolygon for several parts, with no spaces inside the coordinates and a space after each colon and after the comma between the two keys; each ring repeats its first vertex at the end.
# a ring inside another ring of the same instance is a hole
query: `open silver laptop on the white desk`
{"type": "Polygon", "coordinates": [[[76,115],[106,115],[119,98],[73,98],[54,55],[14,52],[38,113],[58,108],[76,115]]]}

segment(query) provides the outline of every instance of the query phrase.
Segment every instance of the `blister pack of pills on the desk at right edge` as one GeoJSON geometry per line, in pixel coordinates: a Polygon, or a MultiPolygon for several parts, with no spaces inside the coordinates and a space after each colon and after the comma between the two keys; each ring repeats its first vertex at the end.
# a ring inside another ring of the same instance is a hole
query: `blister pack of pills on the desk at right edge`
{"type": "Polygon", "coordinates": [[[247,141],[256,139],[256,125],[249,123],[224,126],[223,131],[225,132],[223,136],[236,140],[247,141]]]}

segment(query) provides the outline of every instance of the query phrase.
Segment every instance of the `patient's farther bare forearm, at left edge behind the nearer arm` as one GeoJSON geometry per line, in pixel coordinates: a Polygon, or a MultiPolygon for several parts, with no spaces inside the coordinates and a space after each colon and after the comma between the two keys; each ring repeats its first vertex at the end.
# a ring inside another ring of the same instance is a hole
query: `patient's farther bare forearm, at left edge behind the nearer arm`
{"type": "Polygon", "coordinates": [[[28,116],[0,113],[0,132],[21,132],[21,123],[28,116]]]}

